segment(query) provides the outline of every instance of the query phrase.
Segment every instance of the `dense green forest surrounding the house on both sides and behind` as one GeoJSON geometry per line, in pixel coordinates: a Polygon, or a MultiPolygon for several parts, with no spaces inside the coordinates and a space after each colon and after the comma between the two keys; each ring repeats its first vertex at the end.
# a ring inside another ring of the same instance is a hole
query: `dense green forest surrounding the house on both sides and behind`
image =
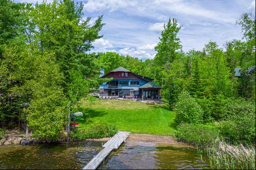
{"type": "Polygon", "coordinates": [[[79,111],[81,99],[108,81],[99,78],[100,69],[107,73],[123,66],[162,86],[162,100],[176,112],[180,131],[198,128],[191,124],[207,130],[215,123],[232,143],[255,142],[255,12],[236,21],[243,39],[223,48],[209,41],[201,51],[189,52],[182,51],[178,37],[182,27],[169,18],[155,58],[142,61],[90,52],[102,37],[104,16],[90,25],[82,9],[73,0],[35,6],[0,0],[0,127],[19,126],[26,134],[58,139],[64,127],[69,132],[69,115],[79,111]],[[241,77],[235,77],[235,68],[241,68],[241,77]]]}

